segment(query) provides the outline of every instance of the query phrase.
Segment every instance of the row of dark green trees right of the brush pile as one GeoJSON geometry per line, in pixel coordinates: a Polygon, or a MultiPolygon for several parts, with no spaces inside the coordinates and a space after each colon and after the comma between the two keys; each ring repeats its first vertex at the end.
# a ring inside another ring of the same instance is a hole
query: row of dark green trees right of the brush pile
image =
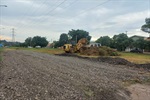
{"type": "Polygon", "coordinates": [[[132,37],[128,37],[125,33],[114,35],[112,38],[109,36],[102,36],[98,38],[96,42],[101,43],[102,46],[117,49],[118,51],[125,51],[127,47],[150,51],[150,41],[144,40],[143,37],[139,37],[137,40],[134,40],[132,37]]]}

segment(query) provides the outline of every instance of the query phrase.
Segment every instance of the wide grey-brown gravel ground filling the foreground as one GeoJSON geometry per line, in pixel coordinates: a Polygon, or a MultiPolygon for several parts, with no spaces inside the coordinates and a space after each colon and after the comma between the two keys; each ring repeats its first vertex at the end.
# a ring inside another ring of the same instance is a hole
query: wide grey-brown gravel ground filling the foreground
{"type": "Polygon", "coordinates": [[[11,50],[0,62],[0,100],[134,100],[124,81],[146,70],[101,61],[11,50]]]}

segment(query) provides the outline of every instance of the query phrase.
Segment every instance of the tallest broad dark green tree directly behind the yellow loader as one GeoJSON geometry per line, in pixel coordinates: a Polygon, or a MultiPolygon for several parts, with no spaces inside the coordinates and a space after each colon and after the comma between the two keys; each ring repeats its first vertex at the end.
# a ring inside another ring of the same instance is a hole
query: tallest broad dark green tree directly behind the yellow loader
{"type": "Polygon", "coordinates": [[[71,31],[68,32],[68,35],[71,38],[71,41],[78,42],[81,38],[87,38],[88,41],[91,40],[91,36],[89,36],[89,32],[84,31],[84,30],[74,30],[72,29],[71,31]]]}

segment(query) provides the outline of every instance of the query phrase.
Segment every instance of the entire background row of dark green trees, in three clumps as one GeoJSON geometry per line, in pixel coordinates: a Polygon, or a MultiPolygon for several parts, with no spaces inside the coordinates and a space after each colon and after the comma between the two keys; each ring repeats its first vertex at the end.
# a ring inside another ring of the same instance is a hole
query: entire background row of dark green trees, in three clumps
{"type": "MultiPolygon", "coordinates": [[[[87,38],[87,40],[90,42],[91,36],[89,35],[89,32],[84,30],[70,30],[67,34],[62,33],[60,35],[60,38],[58,41],[54,41],[54,48],[61,47],[64,44],[76,44],[81,38],[87,38]]],[[[150,41],[144,40],[143,37],[139,37],[138,40],[133,40],[132,37],[128,37],[127,34],[121,33],[118,35],[114,35],[112,38],[109,36],[101,36],[98,38],[95,42],[100,43],[102,46],[108,46],[114,49],[117,49],[118,51],[125,51],[127,47],[129,48],[140,48],[145,49],[147,51],[150,51],[150,41]]],[[[47,46],[48,41],[45,37],[35,36],[35,37],[28,37],[22,46],[41,46],[45,47],[47,46]]]]}

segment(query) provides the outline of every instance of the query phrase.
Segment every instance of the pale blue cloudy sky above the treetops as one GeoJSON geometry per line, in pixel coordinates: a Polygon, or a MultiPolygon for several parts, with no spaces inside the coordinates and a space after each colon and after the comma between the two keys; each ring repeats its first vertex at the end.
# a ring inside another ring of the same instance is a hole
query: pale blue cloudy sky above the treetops
{"type": "Polygon", "coordinates": [[[120,33],[148,37],[141,31],[150,17],[150,0],[0,0],[0,39],[28,37],[59,40],[72,29],[89,32],[92,41],[120,33]],[[7,5],[4,7],[2,5],[7,5]]]}

